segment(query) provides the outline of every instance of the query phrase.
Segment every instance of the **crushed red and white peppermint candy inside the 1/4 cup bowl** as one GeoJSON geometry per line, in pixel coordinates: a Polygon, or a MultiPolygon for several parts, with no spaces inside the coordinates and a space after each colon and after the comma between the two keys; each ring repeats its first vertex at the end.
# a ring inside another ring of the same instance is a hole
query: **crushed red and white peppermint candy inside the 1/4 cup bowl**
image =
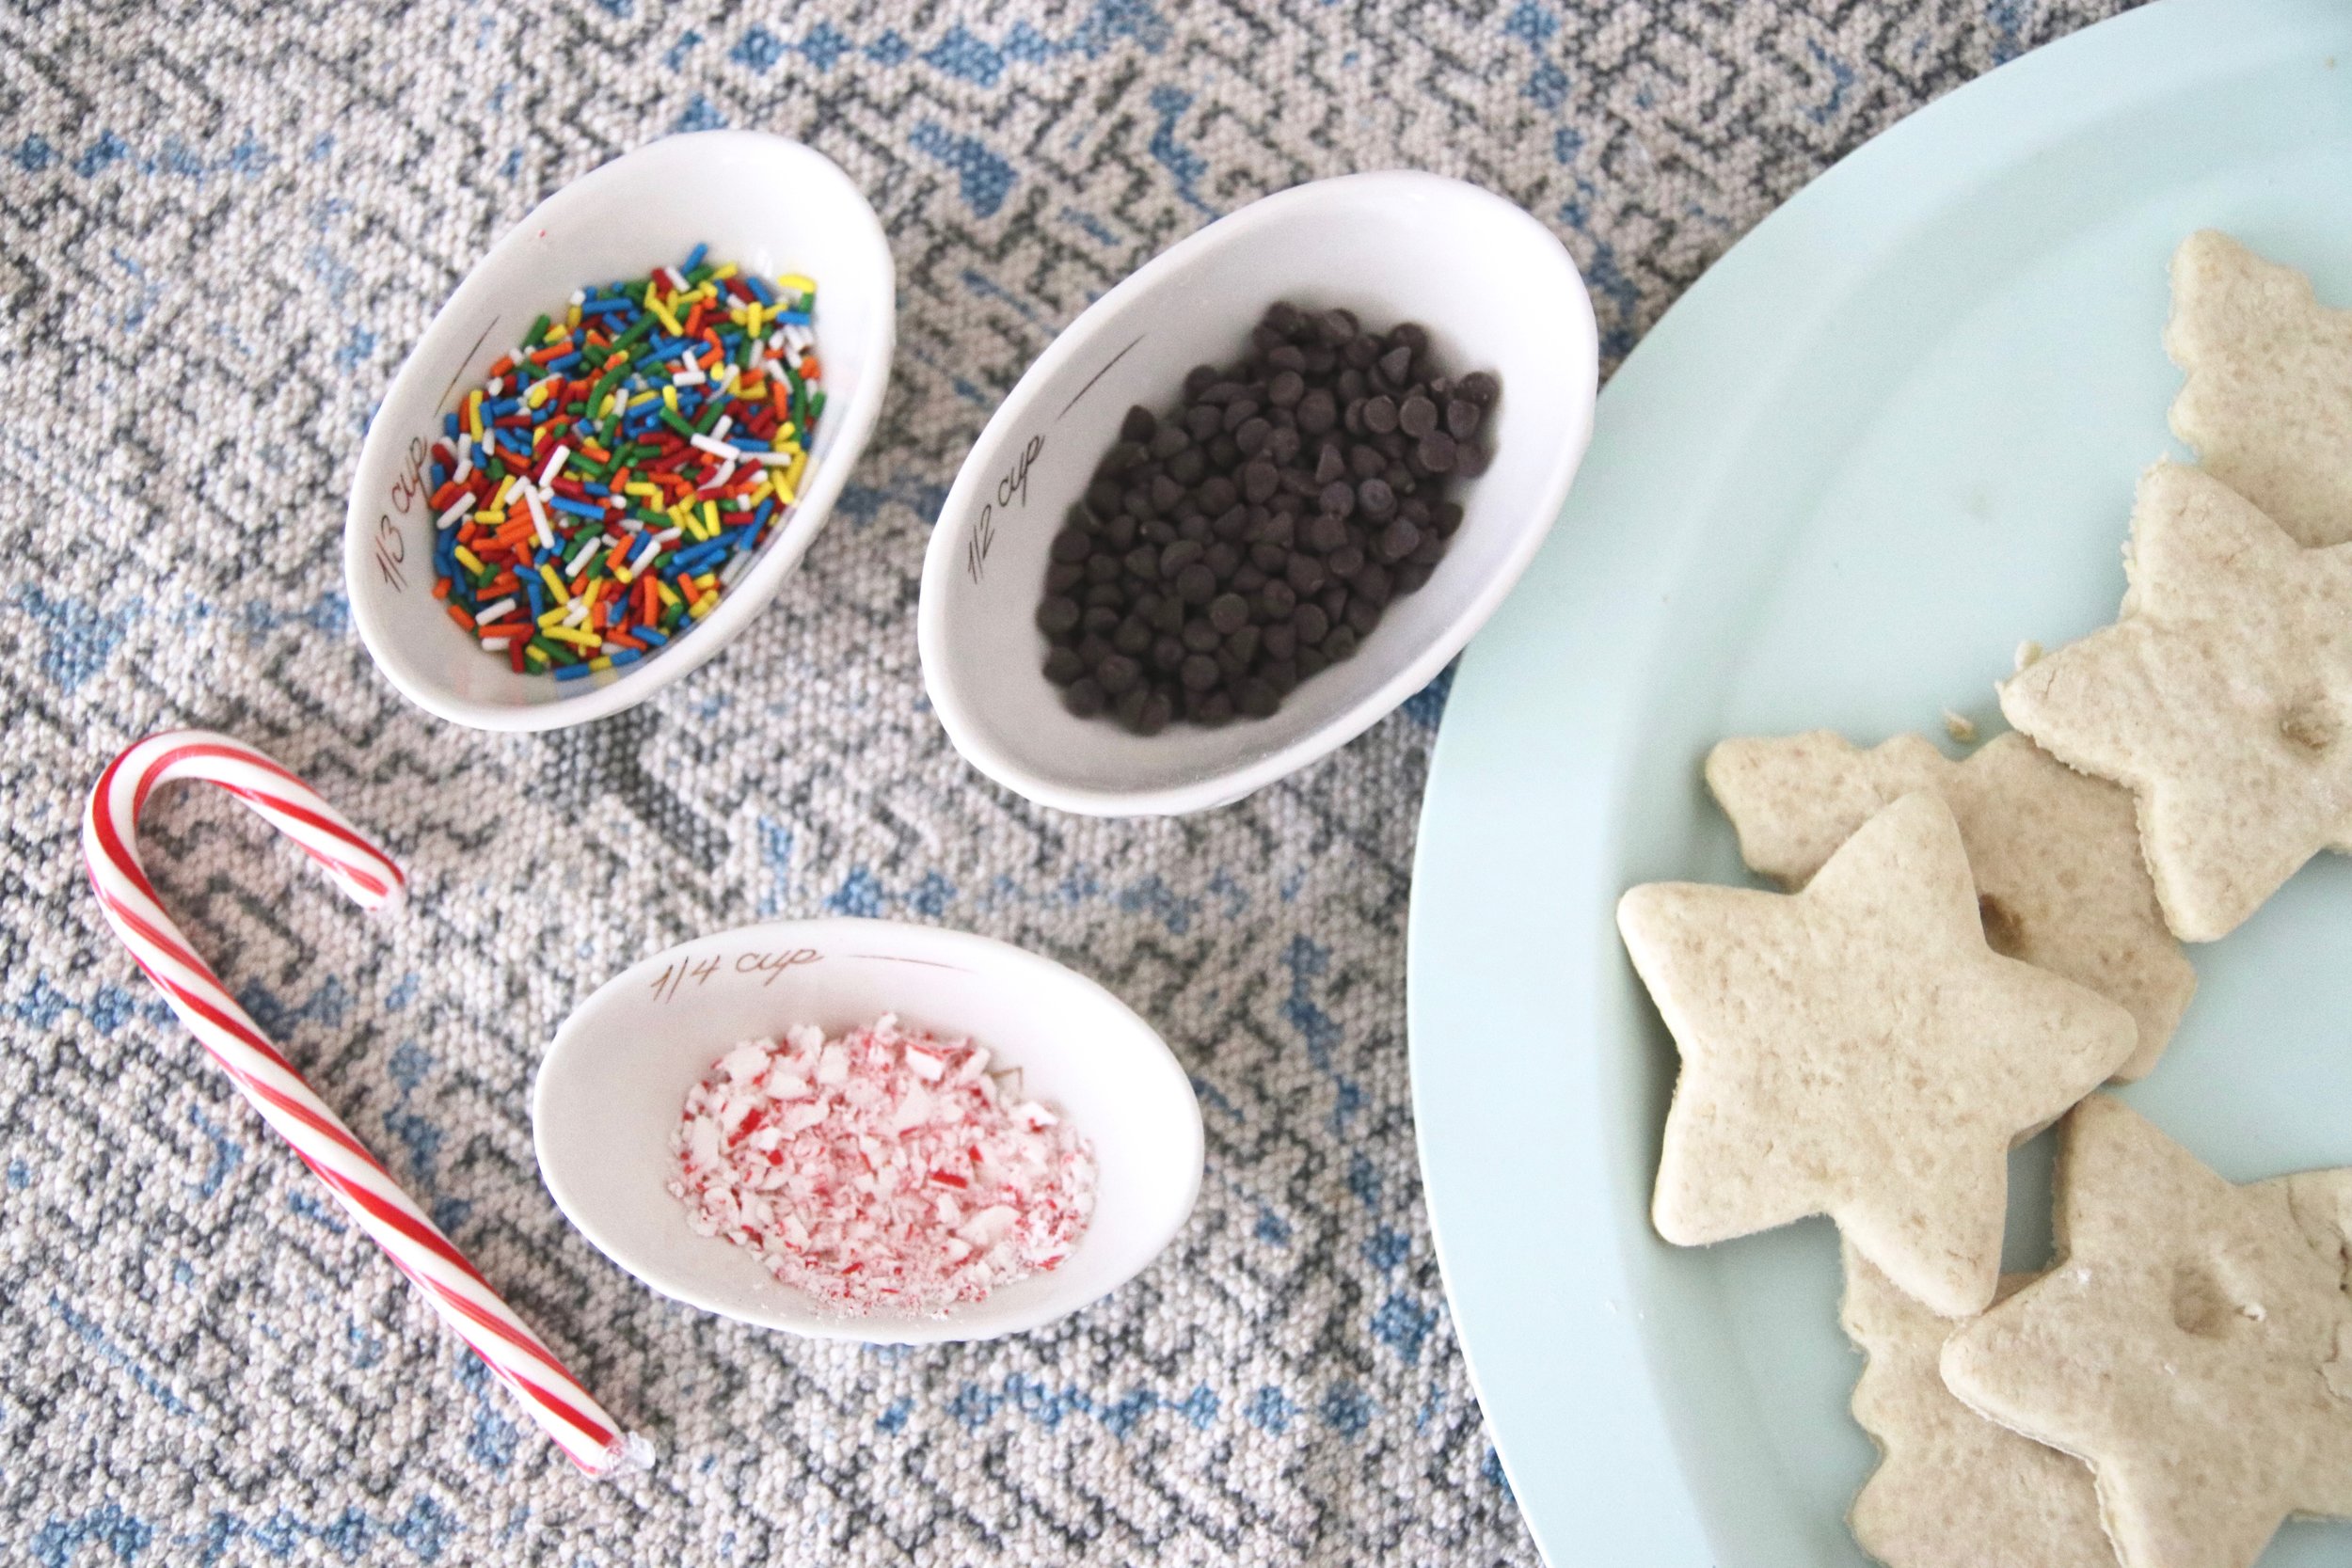
{"type": "Polygon", "coordinates": [[[946,1314],[1056,1267],[1094,1215],[1091,1145],[969,1039],[797,1025],[687,1093],[670,1194],[703,1237],[844,1314],[946,1314]]]}

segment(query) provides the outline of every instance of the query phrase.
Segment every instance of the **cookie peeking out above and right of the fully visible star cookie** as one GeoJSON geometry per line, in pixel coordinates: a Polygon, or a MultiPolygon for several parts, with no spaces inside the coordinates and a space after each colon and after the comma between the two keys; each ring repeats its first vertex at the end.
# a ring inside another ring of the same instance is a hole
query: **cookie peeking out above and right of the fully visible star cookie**
{"type": "Polygon", "coordinates": [[[1922,736],[1867,752],[1828,729],[1724,741],[1708,755],[1708,788],[1750,870],[1790,889],[1886,802],[1910,790],[1940,795],[1959,820],[1992,950],[2089,985],[2140,1025],[2119,1079],[2157,1065],[2197,992],[2197,971],[2147,884],[2131,795],[2025,736],[1999,736],[1966,762],[1922,736]]]}

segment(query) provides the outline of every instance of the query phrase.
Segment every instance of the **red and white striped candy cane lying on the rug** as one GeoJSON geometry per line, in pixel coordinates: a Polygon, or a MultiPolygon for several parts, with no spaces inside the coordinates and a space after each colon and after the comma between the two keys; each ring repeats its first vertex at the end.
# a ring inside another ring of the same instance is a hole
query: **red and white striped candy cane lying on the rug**
{"type": "Polygon", "coordinates": [[[642,1465],[649,1455],[644,1439],[621,1432],[539,1335],[499,1300],[449,1237],[400,1190],[327,1103],[310,1093],[301,1074],[165,914],[155,886],[139,865],[136,825],[148,792],[174,778],[202,778],[242,799],[310,851],[310,858],[325,865],[362,907],[374,910],[400,896],[400,867],[299,778],[240,741],[202,729],[176,729],[148,736],[115,757],[89,792],[82,858],[89,863],[89,884],[108,924],[261,1119],[294,1145],[360,1229],[416,1281],[442,1321],[522,1396],[532,1420],[588,1474],[602,1476],[642,1465]]]}

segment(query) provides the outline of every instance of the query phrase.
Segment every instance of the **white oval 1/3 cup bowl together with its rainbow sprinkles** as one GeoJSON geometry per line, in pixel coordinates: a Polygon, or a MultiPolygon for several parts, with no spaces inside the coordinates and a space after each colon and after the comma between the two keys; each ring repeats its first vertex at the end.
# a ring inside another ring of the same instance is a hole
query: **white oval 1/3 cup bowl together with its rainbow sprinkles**
{"type": "Polygon", "coordinates": [[[776,595],[873,433],[889,244],[823,155],[670,136],[466,277],[376,411],[346,517],[360,637],[477,729],[616,712],[776,595]]]}

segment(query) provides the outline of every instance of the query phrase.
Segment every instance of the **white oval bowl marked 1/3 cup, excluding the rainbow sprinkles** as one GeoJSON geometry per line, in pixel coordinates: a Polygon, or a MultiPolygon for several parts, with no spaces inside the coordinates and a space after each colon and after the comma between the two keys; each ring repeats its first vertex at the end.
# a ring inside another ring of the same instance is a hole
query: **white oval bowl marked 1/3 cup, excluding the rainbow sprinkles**
{"type": "Polygon", "coordinates": [[[343,520],[343,578],[376,668],[419,708],[475,729],[560,729],[642,703],[727,646],[793,576],[882,414],[894,343],[889,240],[823,153],[760,132],[696,132],[572,181],[466,275],[367,425],[343,520]],[[515,675],[433,597],[423,473],[442,414],[574,289],[675,266],[696,244],[769,277],[816,280],[826,414],[800,503],[717,609],[668,649],[579,682],[515,675]]]}

